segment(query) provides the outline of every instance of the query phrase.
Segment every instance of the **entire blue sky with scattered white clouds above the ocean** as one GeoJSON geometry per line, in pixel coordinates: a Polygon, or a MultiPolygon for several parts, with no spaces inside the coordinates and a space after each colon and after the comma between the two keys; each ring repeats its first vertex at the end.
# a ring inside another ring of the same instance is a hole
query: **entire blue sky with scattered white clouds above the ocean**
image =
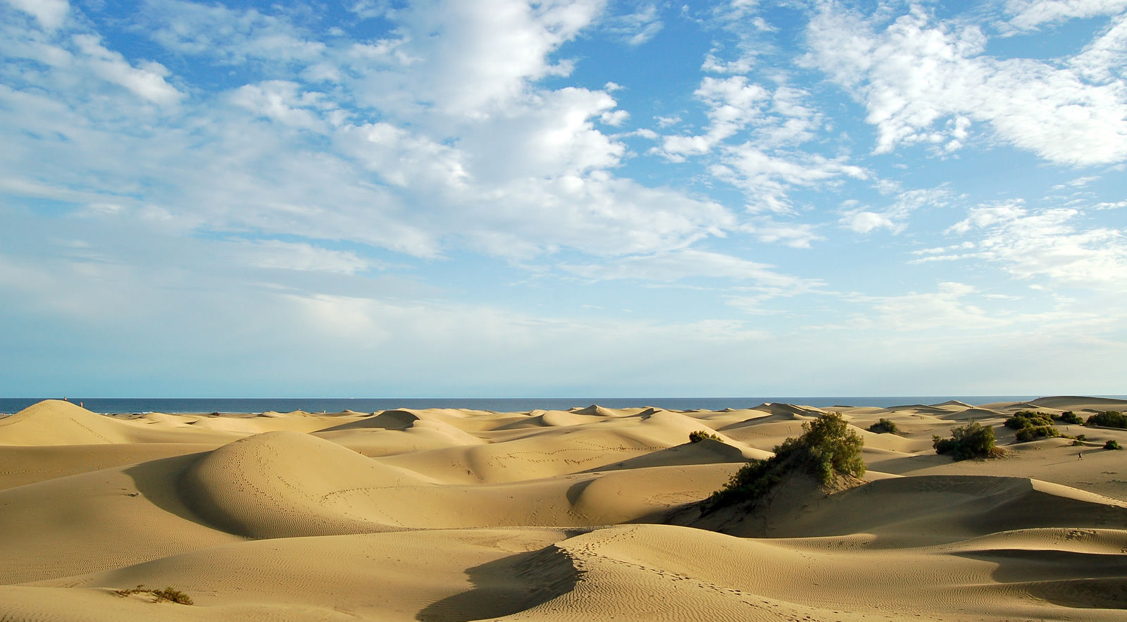
{"type": "Polygon", "coordinates": [[[1127,0],[0,0],[0,394],[1127,392],[1127,0]]]}

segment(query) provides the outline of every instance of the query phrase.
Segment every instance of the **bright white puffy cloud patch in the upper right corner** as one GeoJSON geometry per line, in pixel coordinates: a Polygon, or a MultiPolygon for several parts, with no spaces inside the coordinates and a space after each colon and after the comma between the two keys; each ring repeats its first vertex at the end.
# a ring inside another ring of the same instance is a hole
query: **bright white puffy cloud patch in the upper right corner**
{"type": "Polygon", "coordinates": [[[1088,82],[1083,74],[1100,63],[1083,55],[1075,61],[1083,70],[1067,60],[1062,69],[986,56],[977,27],[933,24],[919,7],[880,29],[825,3],[808,36],[808,61],[868,109],[866,121],[879,132],[877,153],[921,142],[958,149],[967,127],[959,119],[966,118],[988,123],[1003,140],[1055,162],[1127,159],[1127,91],[1119,82],[1088,82]]]}

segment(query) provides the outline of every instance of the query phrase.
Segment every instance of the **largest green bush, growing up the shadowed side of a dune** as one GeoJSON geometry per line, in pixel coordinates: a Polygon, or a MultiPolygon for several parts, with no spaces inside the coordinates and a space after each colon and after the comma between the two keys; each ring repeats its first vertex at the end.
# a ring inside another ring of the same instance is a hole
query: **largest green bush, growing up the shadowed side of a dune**
{"type": "Polygon", "coordinates": [[[823,415],[802,424],[802,435],[790,437],[774,448],[767,460],[752,460],[736,471],[728,483],[706,499],[706,512],[763,497],[790,473],[808,473],[823,485],[840,477],[864,476],[861,447],[864,441],[840,412],[823,415]]]}

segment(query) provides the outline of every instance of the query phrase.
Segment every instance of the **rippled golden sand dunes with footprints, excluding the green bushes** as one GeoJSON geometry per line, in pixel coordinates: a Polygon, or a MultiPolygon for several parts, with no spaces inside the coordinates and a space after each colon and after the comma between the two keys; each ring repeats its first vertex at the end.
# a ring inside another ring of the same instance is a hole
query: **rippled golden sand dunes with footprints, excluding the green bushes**
{"type": "Polygon", "coordinates": [[[1127,430],[1018,443],[1019,410],[148,414],[0,419],[0,619],[1122,620],[1127,430]],[[864,482],[699,501],[837,411],[864,482]],[[899,434],[868,432],[879,419],[899,434]],[[977,421],[1004,457],[932,436],[977,421]],[[706,430],[718,439],[689,441],[706,430]],[[158,602],[174,587],[192,605],[158,602]]]}

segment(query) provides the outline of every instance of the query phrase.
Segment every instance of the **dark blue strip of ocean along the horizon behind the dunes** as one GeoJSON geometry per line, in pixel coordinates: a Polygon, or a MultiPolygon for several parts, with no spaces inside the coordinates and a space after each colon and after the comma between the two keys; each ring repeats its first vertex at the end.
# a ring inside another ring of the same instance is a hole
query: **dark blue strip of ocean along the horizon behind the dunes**
{"type": "MultiPolygon", "coordinates": [[[[1026,401],[1039,396],[853,396],[765,398],[82,398],[68,396],[94,412],[375,412],[393,408],[468,408],[495,412],[566,410],[593,403],[607,408],[658,407],[668,410],[724,410],[748,408],[764,402],[798,403],[818,408],[834,406],[902,406],[940,403],[948,400],[982,405],[1026,401]]],[[[1091,396],[1127,399],[1127,396],[1091,396]]],[[[0,398],[0,415],[14,414],[47,398],[0,398]]],[[[62,399],[59,396],[55,399],[62,399]]]]}

